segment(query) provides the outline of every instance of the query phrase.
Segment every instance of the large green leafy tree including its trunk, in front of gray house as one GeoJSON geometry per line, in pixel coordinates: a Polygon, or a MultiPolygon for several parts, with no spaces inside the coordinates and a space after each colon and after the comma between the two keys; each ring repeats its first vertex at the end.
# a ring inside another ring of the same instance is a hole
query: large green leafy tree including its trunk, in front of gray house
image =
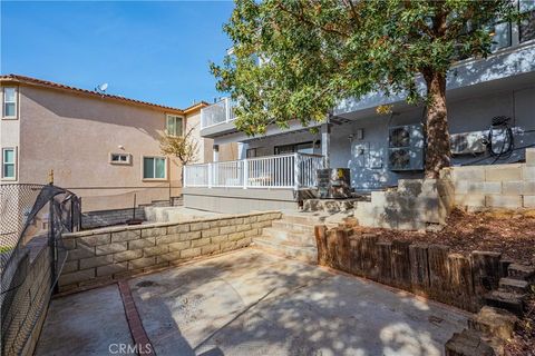
{"type": "Polygon", "coordinates": [[[437,177],[450,156],[447,71],[487,56],[493,26],[515,16],[510,0],[236,0],[224,27],[233,50],[211,70],[247,135],[323,121],[339,100],[373,91],[422,100],[435,150],[426,171],[437,177]]]}

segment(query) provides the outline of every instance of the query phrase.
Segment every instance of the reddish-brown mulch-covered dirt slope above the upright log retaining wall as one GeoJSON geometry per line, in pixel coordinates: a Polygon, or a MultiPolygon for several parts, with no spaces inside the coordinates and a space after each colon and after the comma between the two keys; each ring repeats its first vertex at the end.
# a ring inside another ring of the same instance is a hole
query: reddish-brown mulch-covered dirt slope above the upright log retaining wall
{"type": "Polygon", "coordinates": [[[447,245],[451,251],[468,255],[473,250],[503,253],[506,258],[535,264],[535,211],[465,212],[454,210],[440,231],[399,231],[356,227],[358,231],[379,234],[383,240],[410,240],[447,245]]]}

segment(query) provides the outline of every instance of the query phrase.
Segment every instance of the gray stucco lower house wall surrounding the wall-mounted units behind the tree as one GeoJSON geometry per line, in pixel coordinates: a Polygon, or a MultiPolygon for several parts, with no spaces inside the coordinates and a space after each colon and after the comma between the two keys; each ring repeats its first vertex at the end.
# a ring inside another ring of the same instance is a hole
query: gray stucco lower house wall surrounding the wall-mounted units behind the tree
{"type": "MultiPolygon", "coordinates": [[[[535,145],[535,86],[527,88],[510,88],[492,95],[467,97],[448,102],[449,129],[451,134],[486,130],[496,116],[512,118],[512,126],[523,132],[515,135],[517,148],[535,145]],[[531,131],[531,132],[529,132],[531,131]]],[[[370,115],[356,120],[348,126],[334,127],[331,134],[331,166],[351,168],[352,185],[358,189],[373,189],[397,185],[400,178],[421,178],[421,172],[392,172],[388,169],[388,127],[421,122],[421,108],[407,109],[390,116],[370,115]],[[349,135],[363,129],[361,142],[370,144],[370,155],[382,157],[381,168],[356,167],[349,135]]],[[[524,159],[524,149],[516,150],[509,159],[498,162],[514,162],[524,159]]],[[[454,157],[454,165],[466,165],[484,158],[478,156],[454,157]]],[[[478,165],[490,164],[494,158],[478,161],[478,165]]]]}

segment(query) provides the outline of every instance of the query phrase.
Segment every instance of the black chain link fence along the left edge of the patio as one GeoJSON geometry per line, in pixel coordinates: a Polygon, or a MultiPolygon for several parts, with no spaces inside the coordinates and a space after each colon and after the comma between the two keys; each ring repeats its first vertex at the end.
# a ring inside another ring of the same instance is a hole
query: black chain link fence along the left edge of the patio
{"type": "Polygon", "coordinates": [[[61,234],[80,227],[80,200],[48,185],[0,185],[0,315],[2,355],[37,343],[67,250],[61,234]]]}

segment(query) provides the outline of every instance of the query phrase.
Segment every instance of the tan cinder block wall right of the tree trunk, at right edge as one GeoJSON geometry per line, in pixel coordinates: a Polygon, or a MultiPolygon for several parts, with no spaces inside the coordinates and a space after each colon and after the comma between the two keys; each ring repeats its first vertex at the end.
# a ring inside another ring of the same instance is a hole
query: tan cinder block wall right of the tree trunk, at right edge
{"type": "Polygon", "coordinates": [[[453,182],[456,206],[535,208],[535,148],[526,150],[525,164],[450,167],[441,174],[453,182]]]}

